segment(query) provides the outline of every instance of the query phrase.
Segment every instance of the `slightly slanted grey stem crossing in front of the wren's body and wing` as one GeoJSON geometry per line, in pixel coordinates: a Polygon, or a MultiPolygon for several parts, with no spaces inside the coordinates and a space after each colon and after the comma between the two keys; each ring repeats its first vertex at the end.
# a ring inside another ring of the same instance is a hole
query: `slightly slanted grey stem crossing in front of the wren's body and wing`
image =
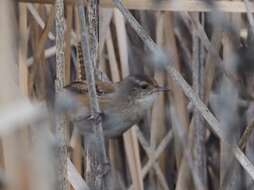
{"type": "MultiPolygon", "coordinates": [[[[100,113],[100,107],[97,100],[96,88],[95,88],[95,76],[94,76],[94,66],[96,61],[96,52],[90,53],[90,44],[88,29],[86,24],[86,16],[84,12],[84,4],[82,0],[78,0],[78,12],[80,21],[80,33],[81,33],[81,45],[82,52],[85,57],[84,66],[86,71],[86,79],[88,81],[88,94],[91,108],[91,115],[95,118],[96,113],[100,113]],[[93,57],[92,57],[93,56],[93,57]]],[[[97,8],[96,2],[91,1],[95,8],[97,8]]],[[[94,17],[95,15],[90,15],[94,17]]],[[[94,18],[97,19],[97,18],[94,18]]],[[[94,24],[94,23],[90,23],[94,24]]],[[[97,27],[95,24],[94,27],[97,27]]],[[[97,43],[95,39],[91,43],[97,43]]],[[[97,44],[92,47],[97,48],[97,44]]],[[[107,156],[105,151],[105,141],[103,136],[103,129],[101,122],[92,126],[96,136],[96,144],[98,145],[98,150],[94,150],[94,147],[89,147],[89,142],[87,144],[87,157],[86,157],[86,177],[89,187],[92,189],[101,189],[105,182],[105,164],[107,164],[107,156]],[[99,156],[100,155],[100,156],[99,156]]],[[[106,183],[107,184],[107,183],[106,183]]]]}

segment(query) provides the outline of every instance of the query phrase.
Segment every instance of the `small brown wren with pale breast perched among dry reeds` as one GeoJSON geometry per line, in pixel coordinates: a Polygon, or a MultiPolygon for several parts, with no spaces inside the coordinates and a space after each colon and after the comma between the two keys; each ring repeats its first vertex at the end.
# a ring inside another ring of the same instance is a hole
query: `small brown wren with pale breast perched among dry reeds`
{"type": "MultiPolygon", "coordinates": [[[[71,119],[80,132],[91,131],[89,97],[85,81],[73,82],[65,90],[80,103],[71,119]]],[[[96,83],[101,121],[105,137],[117,137],[139,122],[156,98],[158,92],[168,91],[146,75],[130,75],[117,83],[96,83]]]]}

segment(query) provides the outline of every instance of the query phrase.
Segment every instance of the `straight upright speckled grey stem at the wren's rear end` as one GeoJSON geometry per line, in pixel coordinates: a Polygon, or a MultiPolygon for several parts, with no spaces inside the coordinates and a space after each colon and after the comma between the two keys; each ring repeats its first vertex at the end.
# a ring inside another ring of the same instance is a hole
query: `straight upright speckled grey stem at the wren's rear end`
{"type": "MultiPolygon", "coordinates": [[[[64,60],[64,2],[57,0],[56,9],[56,92],[64,87],[65,82],[65,60],[64,60]]],[[[56,188],[66,190],[67,182],[67,121],[64,115],[56,118],[56,140],[57,140],[57,167],[56,188]]]]}

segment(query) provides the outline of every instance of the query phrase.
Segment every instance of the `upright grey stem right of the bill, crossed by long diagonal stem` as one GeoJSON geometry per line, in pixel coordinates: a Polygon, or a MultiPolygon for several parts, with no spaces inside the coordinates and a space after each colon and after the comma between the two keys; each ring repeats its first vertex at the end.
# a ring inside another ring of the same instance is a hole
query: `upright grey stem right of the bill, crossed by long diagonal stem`
{"type": "MultiPolygon", "coordinates": [[[[198,14],[194,15],[194,18],[199,22],[198,14]]],[[[199,40],[196,30],[193,27],[192,31],[192,82],[193,90],[204,100],[204,57],[202,56],[203,46],[199,40]]],[[[205,135],[206,128],[204,127],[204,120],[197,109],[194,110],[193,115],[193,140],[192,140],[192,155],[193,165],[197,170],[200,180],[202,181],[204,188],[207,189],[207,165],[206,165],[206,151],[205,151],[205,135]]],[[[205,190],[204,189],[204,190],[205,190]]]]}

